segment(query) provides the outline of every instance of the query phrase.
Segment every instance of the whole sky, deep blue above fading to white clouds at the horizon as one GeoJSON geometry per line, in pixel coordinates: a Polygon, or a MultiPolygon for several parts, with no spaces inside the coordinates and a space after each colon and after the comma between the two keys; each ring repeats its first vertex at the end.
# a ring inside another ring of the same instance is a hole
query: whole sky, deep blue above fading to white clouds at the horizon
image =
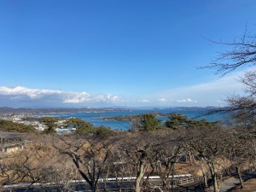
{"type": "Polygon", "coordinates": [[[237,71],[206,65],[254,0],[2,0],[0,107],[222,106],[237,71]]]}

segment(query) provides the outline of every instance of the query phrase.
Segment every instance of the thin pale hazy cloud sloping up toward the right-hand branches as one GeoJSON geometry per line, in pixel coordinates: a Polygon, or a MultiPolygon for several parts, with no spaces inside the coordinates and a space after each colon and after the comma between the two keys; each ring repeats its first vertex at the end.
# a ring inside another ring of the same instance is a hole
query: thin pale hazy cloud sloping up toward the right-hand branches
{"type": "MultiPolygon", "coordinates": [[[[201,84],[171,88],[152,94],[155,98],[169,98],[170,105],[224,106],[227,96],[243,94],[243,84],[239,82],[245,72],[230,73],[223,78],[216,78],[201,84]],[[191,101],[190,101],[191,100],[191,101]],[[222,101],[222,102],[220,102],[222,101]],[[179,104],[177,104],[179,103],[179,104]]],[[[158,102],[164,103],[158,99],[158,102]]],[[[168,102],[169,103],[169,102],[168,102]]]]}

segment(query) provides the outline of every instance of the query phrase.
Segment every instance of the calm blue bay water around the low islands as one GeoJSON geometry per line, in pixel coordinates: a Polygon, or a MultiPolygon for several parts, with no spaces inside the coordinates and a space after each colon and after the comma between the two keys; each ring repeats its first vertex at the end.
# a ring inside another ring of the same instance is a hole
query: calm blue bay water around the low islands
{"type": "MultiPolygon", "coordinates": [[[[185,116],[188,116],[189,119],[195,118],[206,111],[189,111],[189,110],[173,110],[173,109],[134,109],[129,111],[107,111],[107,112],[90,112],[90,113],[55,113],[55,114],[48,114],[49,116],[53,116],[56,118],[80,118],[90,122],[94,126],[106,126],[111,129],[119,129],[119,130],[127,130],[131,128],[131,121],[104,121],[104,118],[109,118],[113,116],[119,115],[135,115],[135,114],[142,114],[142,113],[150,113],[150,112],[158,112],[158,113],[181,113],[185,116]]],[[[45,115],[45,114],[44,114],[45,115]]],[[[224,113],[216,113],[210,116],[201,117],[198,119],[207,119],[208,121],[224,121],[227,115],[224,113]]]]}

